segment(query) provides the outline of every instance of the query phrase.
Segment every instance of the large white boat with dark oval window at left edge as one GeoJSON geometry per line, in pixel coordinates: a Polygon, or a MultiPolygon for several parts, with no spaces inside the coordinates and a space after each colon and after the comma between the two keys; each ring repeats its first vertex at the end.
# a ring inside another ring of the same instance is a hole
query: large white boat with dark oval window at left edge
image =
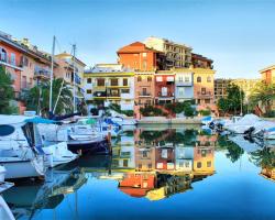
{"type": "Polygon", "coordinates": [[[35,124],[30,117],[0,114],[0,165],[7,179],[37,177],[45,173],[43,151],[35,124]]]}

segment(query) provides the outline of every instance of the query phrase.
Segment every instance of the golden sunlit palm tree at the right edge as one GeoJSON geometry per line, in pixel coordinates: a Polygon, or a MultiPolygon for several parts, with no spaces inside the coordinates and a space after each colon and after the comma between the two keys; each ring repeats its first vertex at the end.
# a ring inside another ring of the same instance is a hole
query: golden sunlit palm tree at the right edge
{"type": "Polygon", "coordinates": [[[250,103],[252,107],[261,103],[265,111],[271,111],[273,101],[275,100],[275,84],[258,82],[250,96],[250,103]]]}

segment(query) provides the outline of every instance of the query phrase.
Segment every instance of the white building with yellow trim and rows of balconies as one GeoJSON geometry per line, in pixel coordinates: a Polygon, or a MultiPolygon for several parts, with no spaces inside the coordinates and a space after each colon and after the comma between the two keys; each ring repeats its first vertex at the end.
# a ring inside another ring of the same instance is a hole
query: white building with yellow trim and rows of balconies
{"type": "Polygon", "coordinates": [[[84,74],[88,109],[118,103],[121,110],[134,108],[134,73],[120,64],[98,64],[84,74]]]}

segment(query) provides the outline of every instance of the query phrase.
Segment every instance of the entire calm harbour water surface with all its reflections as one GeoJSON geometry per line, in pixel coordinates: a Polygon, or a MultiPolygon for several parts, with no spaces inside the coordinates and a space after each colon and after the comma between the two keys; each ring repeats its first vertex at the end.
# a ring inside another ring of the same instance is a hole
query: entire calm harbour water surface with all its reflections
{"type": "Polygon", "coordinates": [[[112,147],[3,197],[18,219],[275,219],[273,143],[151,127],[112,147]]]}

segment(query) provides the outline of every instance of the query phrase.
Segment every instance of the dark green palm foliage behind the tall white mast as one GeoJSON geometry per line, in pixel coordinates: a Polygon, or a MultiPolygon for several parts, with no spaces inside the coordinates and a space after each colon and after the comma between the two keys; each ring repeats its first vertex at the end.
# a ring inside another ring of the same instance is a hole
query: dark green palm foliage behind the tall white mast
{"type": "MultiPolygon", "coordinates": [[[[56,114],[69,113],[73,111],[73,94],[67,87],[67,84],[63,80],[62,78],[53,80],[53,107],[56,105],[54,112],[56,114]],[[56,103],[58,95],[59,99],[56,103]]],[[[34,110],[42,116],[46,116],[50,109],[50,81],[35,86],[30,90],[25,90],[21,99],[25,101],[28,110],[34,110]]]]}

